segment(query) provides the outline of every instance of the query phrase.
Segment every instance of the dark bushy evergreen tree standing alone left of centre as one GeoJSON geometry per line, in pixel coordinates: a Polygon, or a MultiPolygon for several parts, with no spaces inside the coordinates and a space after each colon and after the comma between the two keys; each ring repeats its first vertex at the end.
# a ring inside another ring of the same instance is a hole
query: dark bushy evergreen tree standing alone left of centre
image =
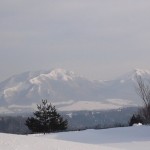
{"type": "Polygon", "coordinates": [[[55,106],[48,104],[47,100],[42,100],[41,105],[37,105],[34,117],[26,120],[26,126],[33,133],[49,133],[67,129],[68,122],[56,111],[55,106]]]}

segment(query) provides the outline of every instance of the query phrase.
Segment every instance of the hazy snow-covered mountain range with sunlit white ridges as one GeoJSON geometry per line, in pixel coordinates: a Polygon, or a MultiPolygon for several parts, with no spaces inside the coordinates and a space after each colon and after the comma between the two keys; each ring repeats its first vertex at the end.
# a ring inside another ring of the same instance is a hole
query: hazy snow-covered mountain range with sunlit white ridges
{"type": "Polygon", "coordinates": [[[91,81],[72,71],[25,72],[0,83],[0,110],[27,111],[47,99],[60,110],[99,110],[140,105],[135,76],[150,78],[150,71],[135,69],[111,81],[91,81]]]}

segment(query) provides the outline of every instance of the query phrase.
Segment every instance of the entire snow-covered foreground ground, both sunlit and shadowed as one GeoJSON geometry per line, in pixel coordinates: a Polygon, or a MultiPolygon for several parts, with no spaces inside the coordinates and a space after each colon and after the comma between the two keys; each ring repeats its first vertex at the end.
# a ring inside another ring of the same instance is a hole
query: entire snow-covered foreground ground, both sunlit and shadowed
{"type": "Polygon", "coordinates": [[[0,134],[0,150],[149,150],[150,126],[46,135],[0,134]]]}

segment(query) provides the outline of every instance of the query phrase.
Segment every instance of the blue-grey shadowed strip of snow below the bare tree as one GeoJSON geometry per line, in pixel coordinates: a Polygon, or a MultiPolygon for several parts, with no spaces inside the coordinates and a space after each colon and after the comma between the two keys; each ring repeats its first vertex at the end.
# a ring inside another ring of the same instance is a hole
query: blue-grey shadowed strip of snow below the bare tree
{"type": "Polygon", "coordinates": [[[90,144],[121,143],[143,140],[150,141],[150,126],[133,126],[103,130],[91,129],[53,133],[47,134],[43,137],[90,144]]]}

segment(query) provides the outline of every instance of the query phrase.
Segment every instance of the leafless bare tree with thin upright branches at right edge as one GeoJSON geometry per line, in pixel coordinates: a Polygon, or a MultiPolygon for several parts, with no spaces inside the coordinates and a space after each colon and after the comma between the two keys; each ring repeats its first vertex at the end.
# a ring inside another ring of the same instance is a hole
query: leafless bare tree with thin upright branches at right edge
{"type": "Polygon", "coordinates": [[[143,117],[145,123],[150,123],[150,82],[136,76],[137,93],[143,100],[144,106],[139,110],[139,114],[143,117]]]}

